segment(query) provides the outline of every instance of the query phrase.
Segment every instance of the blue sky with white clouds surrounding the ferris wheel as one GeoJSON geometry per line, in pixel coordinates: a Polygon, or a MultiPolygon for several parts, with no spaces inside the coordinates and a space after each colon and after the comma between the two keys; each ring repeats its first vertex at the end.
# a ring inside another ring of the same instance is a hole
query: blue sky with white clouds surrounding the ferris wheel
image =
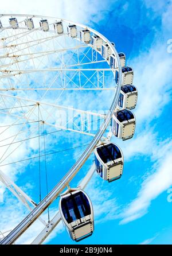
{"type": "MultiPolygon", "coordinates": [[[[29,12],[42,12],[79,21],[115,42],[118,52],[126,53],[127,64],[134,68],[134,84],[138,87],[139,93],[138,105],[134,111],[137,121],[134,138],[124,142],[113,139],[124,153],[122,179],[108,184],[96,174],[93,176],[85,190],[91,197],[95,210],[95,232],[80,243],[171,244],[172,203],[167,201],[167,189],[172,187],[172,53],[167,52],[167,40],[172,37],[172,2],[131,0],[101,3],[102,1],[84,0],[82,5],[75,1],[80,10],[78,12],[67,2],[59,2],[61,11],[57,11],[58,15],[52,10],[56,7],[55,1],[48,6],[47,13],[43,9],[36,11],[36,7],[32,7],[29,12]]],[[[38,3],[39,1],[36,1],[36,5],[38,3]]],[[[4,12],[14,12],[5,11],[7,3],[4,5],[4,12]]],[[[26,13],[26,10],[20,6],[16,12],[26,13]]],[[[84,136],[75,135],[71,138],[71,134],[67,133],[61,139],[62,146],[70,148],[70,145],[76,145],[79,139],[83,144],[86,142],[84,136]]],[[[57,146],[55,149],[57,150],[57,146]]],[[[74,164],[77,154],[80,154],[79,150],[70,155],[68,153],[66,157],[60,153],[48,159],[50,187],[56,184],[54,177],[58,176],[60,179],[74,164]],[[70,159],[67,161],[68,156],[70,159]],[[61,162],[60,172],[57,162],[61,162]]],[[[81,169],[73,184],[77,184],[83,177],[91,161],[92,157],[81,169]]],[[[26,166],[25,172],[18,173],[15,180],[19,187],[24,187],[25,192],[37,201],[38,173],[34,171],[36,168],[37,162],[26,166]]],[[[17,219],[19,210],[26,214],[22,206],[10,197],[7,191],[5,198],[6,218],[17,219]],[[11,210],[13,215],[10,214],[11,210]]],[[[1,206],[5,207],[5,204],[1,206]]],[[[58,200],[53,203],[53,211],[56,209],[58,210],[58,200]]],[[[71,241],[67,232],[60,226],[60,230],[56,228],[47,243],[75,242],[71,241]]]]}

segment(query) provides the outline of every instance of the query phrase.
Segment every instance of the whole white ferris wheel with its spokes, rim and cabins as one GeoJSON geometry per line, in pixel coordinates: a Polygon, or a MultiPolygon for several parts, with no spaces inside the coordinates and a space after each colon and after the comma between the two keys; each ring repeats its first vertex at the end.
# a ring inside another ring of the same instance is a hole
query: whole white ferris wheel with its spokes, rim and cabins
{"type": "Polygon", "coordinates": [[[96,170],[109,182],[123,173],[122,149],[111,137],[125,140],[134,135],[136,121],[131,110],[138,91],[132,84],[133,69],[126,66],[126,56],[116,51],[113,42],[76,22],[1,14],[0,34],[0,181],[30,211],[14,230],[1,232],[0,243],[14,243],[37,219],[44,228],[32,244],[44,242],[61,219],[71,238],[80,241],[94,230],[93,206],[84,192],[93,173],[96,170]],[[46,139],[48,136],[52,137],[46,139]],[[30,142],[33,139],[37,142],[30,142]],[[65,148],[63,140],[73,146],[65,148]],[[78,159],[73,162],[69,153],[67,161],[72,166],[65,165],[63,158],[55,164],[66,172],[60,173],[58,180],[52,178],[55,185],[48,190],[48,157],[71,149],[79,149],[78,159]],[[80,184],[71,188],[72,180],[92,155],[95,161],[80,184]],[[22,168],[21,163],[32,165],[34,161],[38,161],[39,172],[37,202],[4,169],[9,165],[22,168]],[[41,161],[46,171],[43,198],[41,161]],[[59,211],[45,221],[42,214],[57,197],[59,211]]]}

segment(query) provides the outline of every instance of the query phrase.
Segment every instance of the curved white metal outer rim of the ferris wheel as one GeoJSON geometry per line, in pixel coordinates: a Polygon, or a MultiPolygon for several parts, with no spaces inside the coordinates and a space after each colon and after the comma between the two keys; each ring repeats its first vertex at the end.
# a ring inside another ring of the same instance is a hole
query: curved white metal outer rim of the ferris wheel
{"type": "MultiPolygon", "coordinates": [[[[107,43],[110,48],[111,48],[111,51],[112,51],[112,54],[115,55],[116,57],[116,60],[117,60],[117,63],[118,63],[118,71],[119,71],[119,79],[118,79],[118,86],[116,87],[116,92],[115,92],[115,96],[114,96],[114,99],[112,100],[112,104],[111,104],[111,107],[110,107],[110,110],[108,111],[105,119],[104,119],[104,123],[101,125],[100,129],[97,131],[95,137],[93,137],[91,143],[89,143],[87,149],[83,152],[83,154],[80,156],[80,158],[76,161],[75,165],[72,166],[72,168],[68,171],[67,174],[65,174],[65,176],[61,179],[60,183],[62,183],[62,180],[66,180],[69,182],[73,179],[73,177],[76,175],[76,173],[79,171],[79,169],[81,168],[81,166],[84,165],[84,162],[88,159],[88,157],[90,156],[90,154],[92,153],[93,149],[96,147],[97,143],[100,141],[101,137],[103,136],[104,134],[104,131],[107,129],[110,121],[111,121],[111,118],[112,118],[112,115],[115,111],[115,108],[116,108],[116,105],[118,103],[118,98],[119,98],[119,94],[120,94],[120,87],[121,87],[121,84],[122,84],[122,67],[120,65],[120,59],[119,59],[119,56],[118,56],[118,52],[116,51],[115,47],[111,44],[111,42],[106,38],[104,37],[102,34],[100,34],[99,32],[97,32],[96,30],[94,29],[91,29],[89,28],[88,26],[85,26],[83,24],[79,24],[77,22],[73,22],[73,21],[68,21],[68,20],[65,20],[65,19],[61,19],[61,18],[57,18],[57,17],[48,17],[48,16],[44,16],[44,15],[30,15],[30,14],[0,14],[0,18],[1,17],[4,17],[4,16],[16,16],[16,17],[36,17],[36,18],[50,18],[50,19],[57,19],[57,20],[60,20],[60,21],[64,21],[64,22],[69,22],[69,23],[72,23],[74,25],[77,25],[77,26],[81,26],[81,28],[87,28],[89,29],[92,33],[96,34],[97,36],[99,36],[101,39],[103,39],[103,41],[105,43],[107,43]],[[71,172],[71,170],[73,170],[73,172],[71,172]],[[70,177],[68,177],[70,176],[70,177]]],[[[113,72],[114,73],[114,72],[113,72]]],[[[55,199],[56,195],[57,195],[57,190],[58,190],[58,193],[60,193],[59,191],[62,189],[64,189],[67,185],[67,181],[64,181],[64,183],[60,184],[61,185],[61,188],[60,189],[57,189],[57,185],[52,189],[52,191],[49,192],[49,194],[46,196],[45,199],[43,199],[41,201],[41,203],[43,201],[47,201],[48,198],[50,196],[53,196],[53,199],[51,200],[51,202],[55,199]]],[[[28,216],[31,215],[31,218],[29,219],[29,223],[33,223],[34,220],[36,220],[36,218],[33,218],[33,213],[34,212],[37,212],[37,215],[39,216],[40,215],[40,212],[38,211],[39,208],[42,207],[42,204],[38,204],[37,207],[32,211],[30,212],[30,214],[28,216]],[[39,208],[38,208],[39,207],[39,208]]],[[[48,205],[46,203],[46,205],[48,205]]],[[[45,206],[45,205],[44,205],[45,206]]],[[[48,207],[48,206],[47,206],[48,207]]],[[[24,225],[25,225],[25,220],[28,219],[28,216],[19,224],[21,225],[19,227],[19,225],[13,230],[10,232],[9,235],[6,236],[5,239],[3,239],[0,243],[1,244],[6,244],[6,243],[12,243],[15,241],[15,239],[18,238],[18,236],[16,237],[16,234],[17,234],[17,228],[21,228],[21,233],[20,235],[22,234],[23,229],[24,228],[24,225]]],[[[35,215],[36,216],[36,215],[35,215]]]]}

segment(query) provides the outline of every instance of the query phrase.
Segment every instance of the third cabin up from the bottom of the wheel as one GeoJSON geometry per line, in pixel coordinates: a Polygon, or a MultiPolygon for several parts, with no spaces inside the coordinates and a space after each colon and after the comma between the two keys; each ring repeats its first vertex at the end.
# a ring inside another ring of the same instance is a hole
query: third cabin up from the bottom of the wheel
{"type": "Polygon", "coordinates": [[[128,109],[115,111],[112,115],[111,129],[112,133],[123,141],[132,138],[135,131],[134,114],[128,109]]]}

